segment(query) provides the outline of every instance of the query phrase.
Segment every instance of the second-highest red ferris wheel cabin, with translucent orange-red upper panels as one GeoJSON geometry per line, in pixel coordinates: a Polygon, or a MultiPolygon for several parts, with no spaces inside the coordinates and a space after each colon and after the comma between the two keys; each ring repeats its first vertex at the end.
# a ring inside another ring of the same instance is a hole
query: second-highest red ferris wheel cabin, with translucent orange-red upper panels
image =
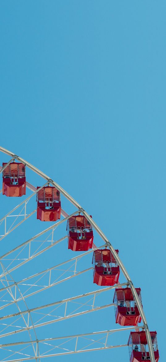
{"type": "MultiPolygon", "coordinates": [[[[40,186],[37,187],[40,189],[40,186]]],[[[60,219],[60,192],[51,186],[45,186],[37,192],[37,219],[41,221],[56,221],[60,219]]]]}

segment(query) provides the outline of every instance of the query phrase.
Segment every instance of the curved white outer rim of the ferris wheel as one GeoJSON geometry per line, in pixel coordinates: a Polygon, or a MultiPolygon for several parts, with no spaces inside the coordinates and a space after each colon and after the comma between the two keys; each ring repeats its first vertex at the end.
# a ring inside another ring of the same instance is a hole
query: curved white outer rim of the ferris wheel
{"type": "Polygon", "coordinates": [[[125,275],[125,277],[127,279],[127,282],[130,285],[130,288],[131,288],[131,291],[133,293],[136,305],[137,305],[138,310],[140,312],[140,316],[142,317],[142,320],[143,320],[143,323],[144,323],[144,329],[145,329],[145,332],[146,332],[146,337],[147,337],[151,362],[155,362],[152,340],[151,340],[147,320],[146,320],[146,317],[145,317],[145,314],[144,314],[144,311],[143,311],[143,308],[142,308],[142,304],[140,303],[140,300],[138,298],[138,294],[137,294],[137,292],[135,290],[135,287],[134,287],[134,285],[133,285],[133,283],[131,281],[131,278],[130,278],[129,274],[127,273],[127,270],[126,270],[125,266],[123,265],[120,257],[118,256],[115,249],[113,248],[113,246],[111,245],[111,243],[107,239],[106,235],[104,235],[102,230],[98,227],[98,225],[94,222],[94,220],[90,217],[90,215],[81,207],[81,205],[79,205],[79,203],[77,201],[75,201],[75,199],[73,199],[61,186],[59,186],[49,176],[47,176],[45,173],[40,171],[38,168],[31,165],[29,162],[25,161],[22,157],[19,157],[19,156],[15,155],[13,152],[8,151],[8,150],[6,150],[5,148],[3,148],[1,146],[0,146],[0,151],[6,153],[6,155],[12,156],[14,159],[17,159],[18,161],[21,161],[27,167],[29,167],[32,171],[36,172],[41,177],[45,178],[47,181],[49,181],[51,184],[53,184],[70,202],[72,202],[73,205],[75,205],[78,208],[79,211],[82,212],[82,214],[85,215],[86,219],[89,220],[89,222],[93,225],[94,229],[98,232],[98,234],[106,242],[108,248],[111,250],[111,253],[115,257],[115,260],[117,261],[118,265],[120,266],[120,268],[122,270],[122,273],[125,275]]]}

